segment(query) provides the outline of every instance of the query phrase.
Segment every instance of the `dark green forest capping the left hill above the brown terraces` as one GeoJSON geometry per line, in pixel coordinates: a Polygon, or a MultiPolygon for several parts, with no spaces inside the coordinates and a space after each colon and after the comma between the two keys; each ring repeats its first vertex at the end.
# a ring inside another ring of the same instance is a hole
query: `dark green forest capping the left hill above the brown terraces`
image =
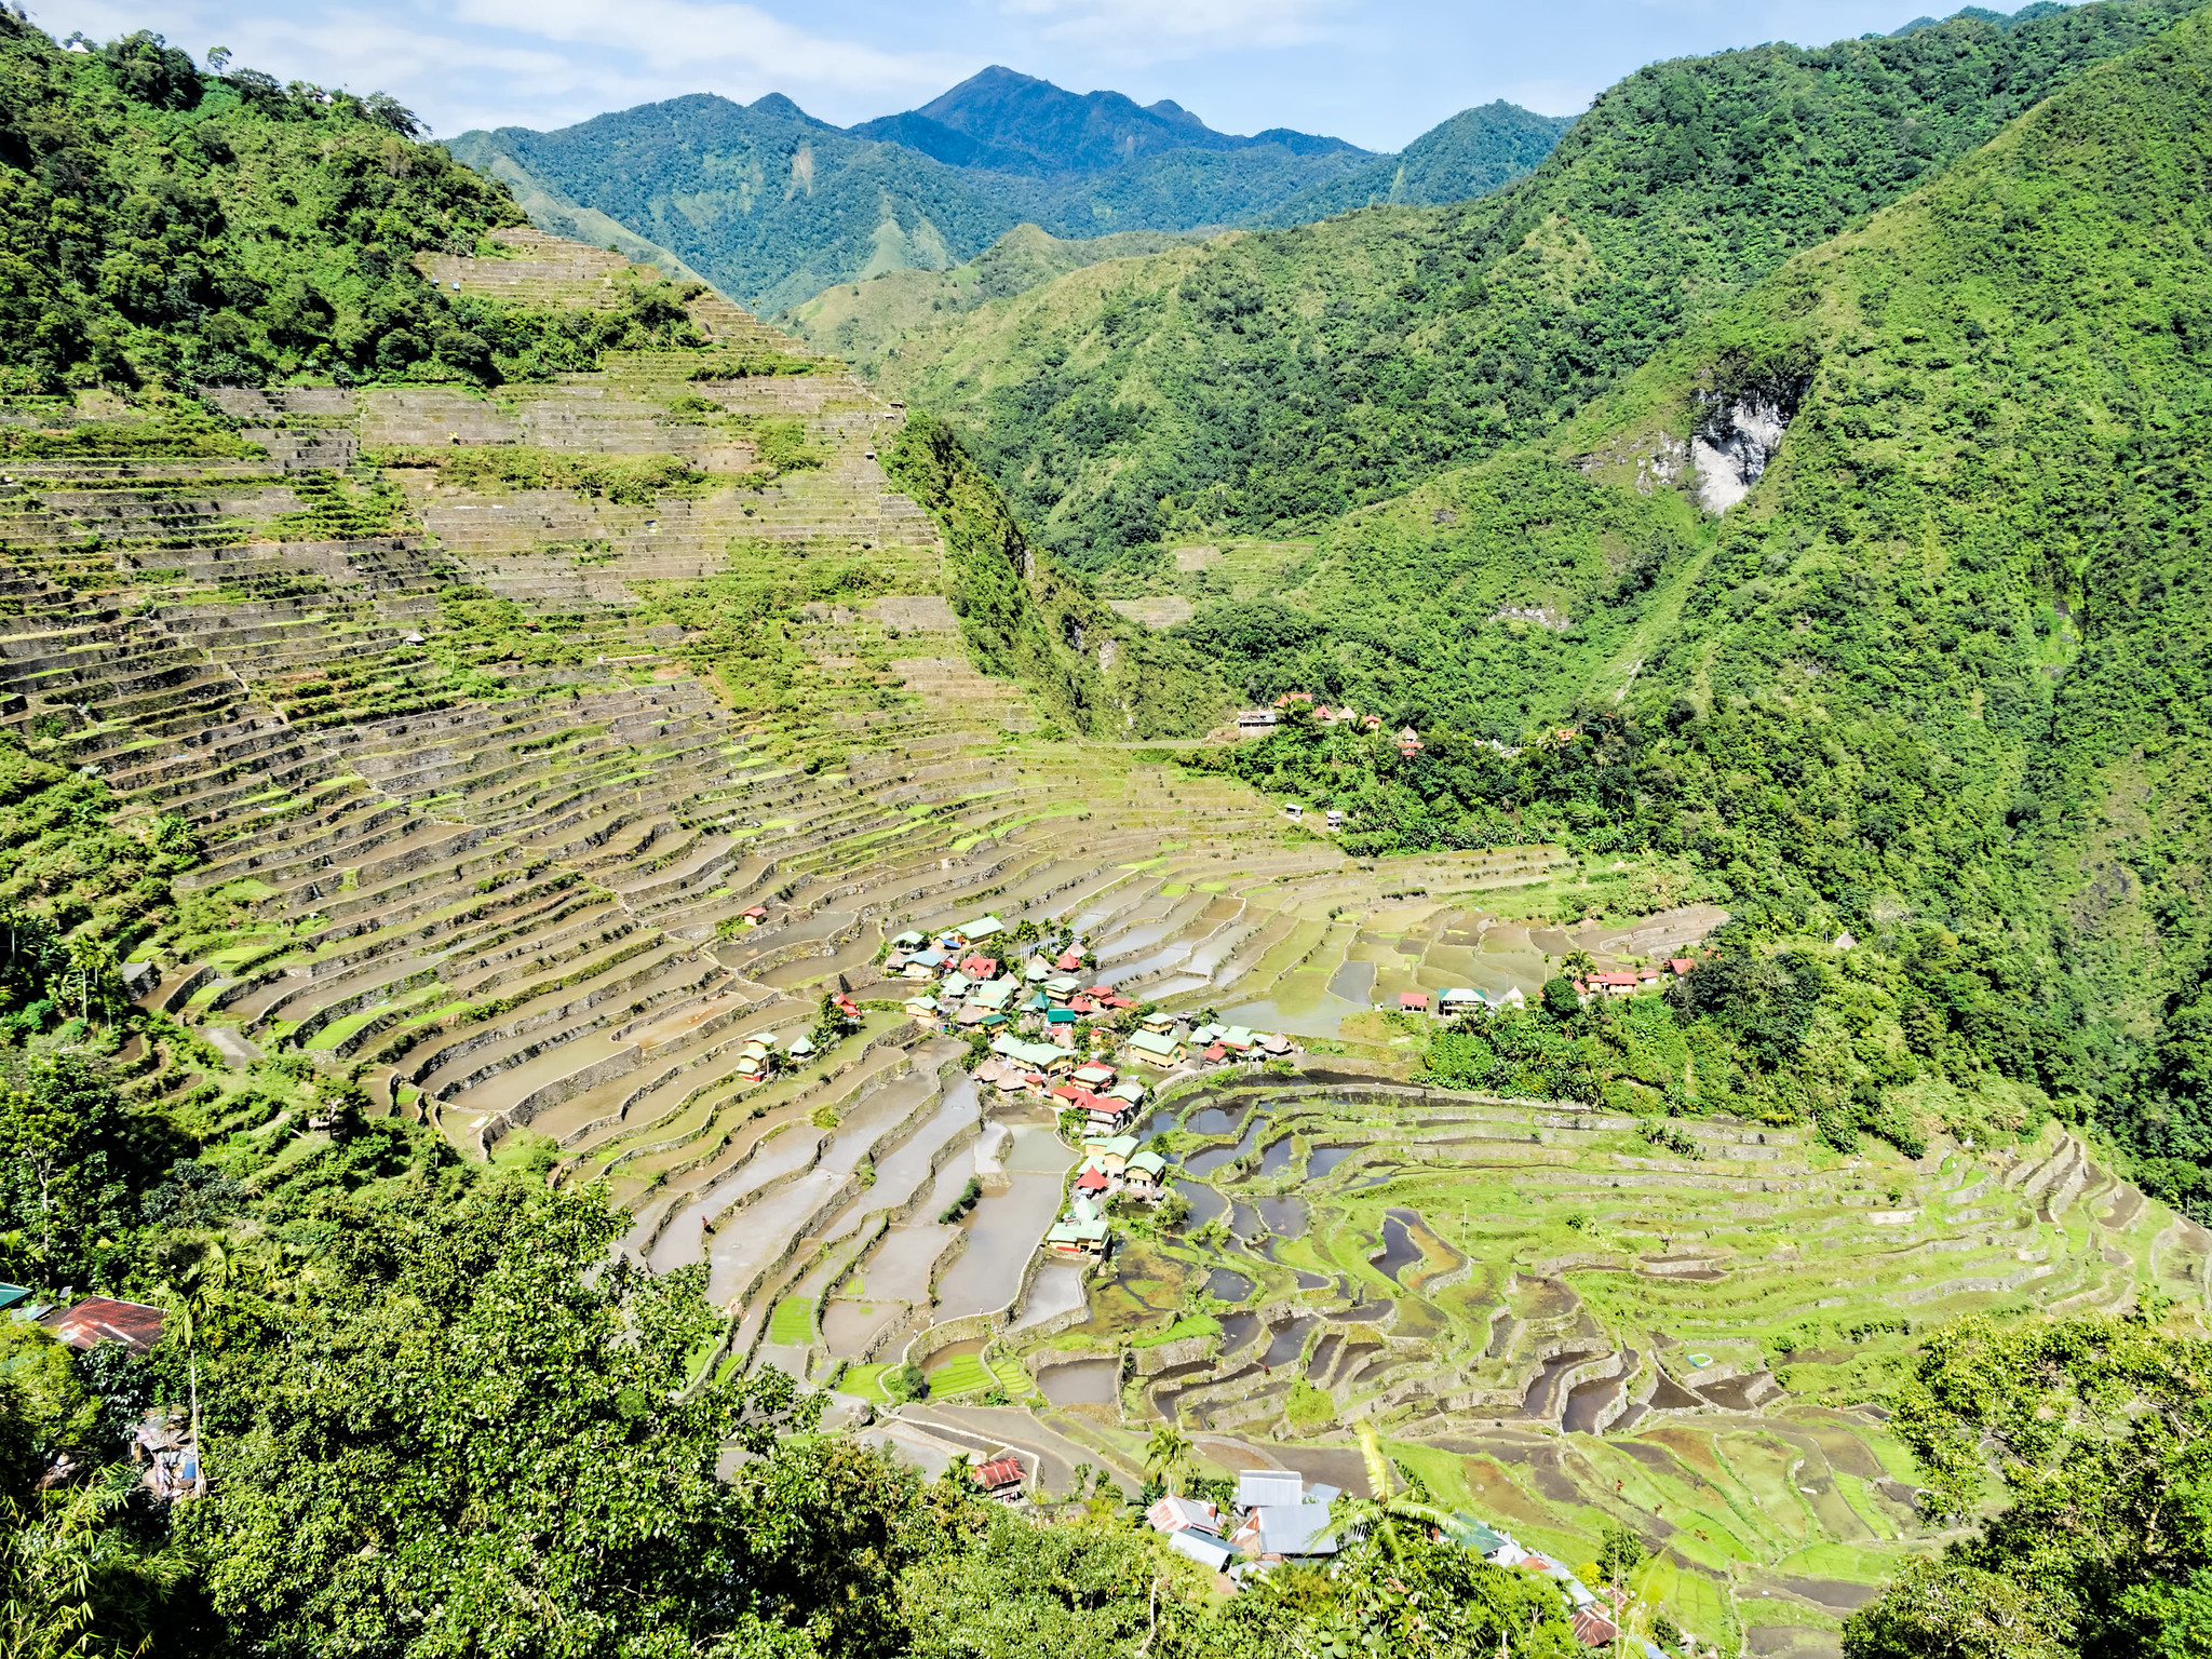
{"type": "Polygon", "coordinates": [[[383,95],[0,13],[0,389],[538,378],[684,325],[668,283],[575,316],[440,294],[416,254],[522,212],[414,135],[383,95]]]}

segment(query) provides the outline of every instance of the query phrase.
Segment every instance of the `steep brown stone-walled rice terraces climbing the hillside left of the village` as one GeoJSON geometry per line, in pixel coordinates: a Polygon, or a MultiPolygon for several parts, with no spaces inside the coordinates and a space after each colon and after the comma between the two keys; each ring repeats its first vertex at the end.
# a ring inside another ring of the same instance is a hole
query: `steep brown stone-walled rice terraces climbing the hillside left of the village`
{"type": "MultiPolygon", "coordinates": [[[[526,305],[622,279],[502,239],[427,274],[526,305]]],[[[885,482],[900,411],[712,294],[692,321],[701,347],[498,396],[9,409],[0,719],[201,843],[210,942],[155,960],[148,1004],[358,1075],[467,1157],[606,1179],[641,1254],[708,1256],[745,1305],[845,1237],[863,1166],[896,1210],[885,1172],[918,1159],[898,1199],[927,1197],[973,1133],[896,1000],[743,1082],[823,987],[867,995],[887,927],[1079,916],[1130,984],[1212,993],[1312,958],[1343,860],[1161,754],[1033,737],[885,482]],[[805,465],[765,465],[790,427],[805,465]],[[719,606],[774,584],[776,650],[723,650],[719,606]]]]}

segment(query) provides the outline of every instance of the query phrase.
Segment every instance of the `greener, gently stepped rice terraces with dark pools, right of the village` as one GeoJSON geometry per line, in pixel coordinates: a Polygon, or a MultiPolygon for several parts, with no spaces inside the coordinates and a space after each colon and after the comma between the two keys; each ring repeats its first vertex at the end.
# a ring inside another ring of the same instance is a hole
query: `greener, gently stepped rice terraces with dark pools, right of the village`
{"type": "Polygon", "coordinates": [[[909,1345],[947,1383],[916,1429],[1013,1447],[1048,1489],[1077,1460],[1135,1486],[1172,1420],[1212,1473],[1358,1491],[1349,1429],[1374,1422],[1400,1471],[1557,1559],[1628,1524],[1659,1553],[1646,1595],[1723,1652],[1836,1652],[1944,1535],[1863,1405],[1916,1334],[2208,1307],[2212,1237],[2057,1128],[1918,1161],[1728,1121],[1666,1148],[1628,1117],[1352,1077],[1206,1088],[1144,1128],[1190,1223],[1139,1228],[1084,1285],[1042,1270],[989,1347],[909,1345]],[[1009,1376],[1015,1405],[978,1405],[1009,1376]]]}

